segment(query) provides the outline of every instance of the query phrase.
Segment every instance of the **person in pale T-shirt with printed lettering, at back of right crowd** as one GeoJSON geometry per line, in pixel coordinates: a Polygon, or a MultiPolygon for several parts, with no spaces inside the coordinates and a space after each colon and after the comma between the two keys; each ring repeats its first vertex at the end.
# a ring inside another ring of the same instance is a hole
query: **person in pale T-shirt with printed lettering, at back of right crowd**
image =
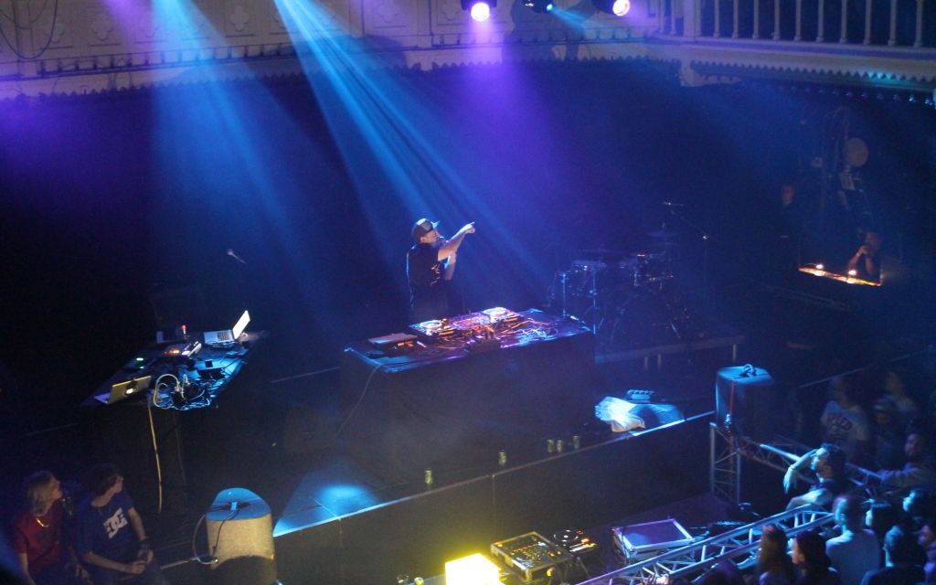
{"type": "Polygon", "coordinates": [[[847,378],[837,376],[832,380],[831,398],[819,419],[823,441],[841,446],[848,461],[861,465],[870,452],[868,416],[856,401],[855,387],[847,378]]]}

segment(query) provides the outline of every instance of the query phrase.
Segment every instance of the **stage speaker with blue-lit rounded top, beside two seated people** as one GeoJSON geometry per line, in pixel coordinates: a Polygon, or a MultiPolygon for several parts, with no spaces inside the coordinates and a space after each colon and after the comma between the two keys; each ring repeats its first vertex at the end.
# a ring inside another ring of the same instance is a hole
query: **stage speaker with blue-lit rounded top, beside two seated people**
{"type": "Polygon", "coordinates": [[[270,505],[243,488],[221,490],[205,515],[211,585],[277,582],[270,505]]]}

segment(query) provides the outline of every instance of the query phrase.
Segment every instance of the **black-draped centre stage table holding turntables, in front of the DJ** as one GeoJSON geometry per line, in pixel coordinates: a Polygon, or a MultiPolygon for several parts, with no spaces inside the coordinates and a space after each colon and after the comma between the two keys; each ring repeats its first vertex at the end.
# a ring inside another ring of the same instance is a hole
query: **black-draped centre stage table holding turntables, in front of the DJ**
{"type": "Polygon", "coordinates": [[[597,402],[592,334],[539,311],[510,313],[519,318],[504,328],[481,325],[396,356],[370,342],[346,347],[348,453],[388,485],[418,485],[427,469],[441,481],[474,477],[497,469],[501,451],[514,464],[545,457],[548,438],[568,444],[597,402]]]}

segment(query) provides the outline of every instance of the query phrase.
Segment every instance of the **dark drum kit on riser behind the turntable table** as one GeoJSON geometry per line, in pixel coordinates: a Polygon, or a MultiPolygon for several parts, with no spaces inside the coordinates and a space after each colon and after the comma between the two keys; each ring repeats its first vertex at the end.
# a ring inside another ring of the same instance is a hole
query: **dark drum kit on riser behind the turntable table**
{"type": "Polygon", "coordinates": [[[579,250],[567,271],[556,272],[550,307],[587,324],[601,340],[654,344],[682,341],[689,315],[674,285],[675,243],[668,231],[631,253],[579,250]]]}

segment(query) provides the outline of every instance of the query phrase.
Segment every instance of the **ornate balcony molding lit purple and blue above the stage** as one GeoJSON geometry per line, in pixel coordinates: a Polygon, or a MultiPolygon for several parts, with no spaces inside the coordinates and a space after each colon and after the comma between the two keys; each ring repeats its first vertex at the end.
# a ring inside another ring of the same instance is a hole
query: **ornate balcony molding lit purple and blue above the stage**
{"type": "MultiPolygon", "coordinates": [[[[695,2],[680,0],[678,16],[696,14],[695,2]]],[[[634,0],[626,19],[598,12],[591,0],[557,4],[566,18],[501,0],[481,30],[459,0],[316,0],[297,5],[315,10],[310,32],[275,0],[186,0],[168,15],[115,0],[16,0],[17,12],[0,13],[0,99],[300,75],[314,72],[314,59],[299,57],[323,39],[382,67],[637,58],[679,64],[688,85],[936,87],[932,48],[673,35],[664,32],[676,27],[661,0],[634,0]]]]}

